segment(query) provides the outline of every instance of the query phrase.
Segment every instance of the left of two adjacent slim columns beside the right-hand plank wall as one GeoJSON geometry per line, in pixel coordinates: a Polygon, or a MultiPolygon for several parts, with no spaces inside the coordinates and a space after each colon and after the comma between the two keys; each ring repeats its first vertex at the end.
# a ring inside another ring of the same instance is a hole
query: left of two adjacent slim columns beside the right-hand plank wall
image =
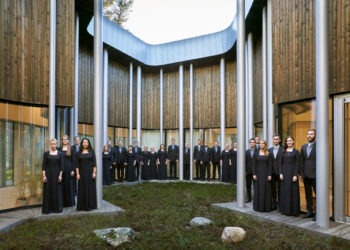
{"type": "Polygon", "coordinates": [[[267,137],[267,31],[266,31],[266,7],[263,8],[262,13],[262,65],[263,65],[263,138],[265,140],[267,137]]]}

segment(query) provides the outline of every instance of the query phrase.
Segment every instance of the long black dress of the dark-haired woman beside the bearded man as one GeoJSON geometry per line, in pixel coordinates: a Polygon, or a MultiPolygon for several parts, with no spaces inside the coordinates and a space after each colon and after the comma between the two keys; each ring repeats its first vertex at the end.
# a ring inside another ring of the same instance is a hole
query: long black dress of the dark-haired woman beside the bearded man
{"type": "Polygon", "coordinates": [[[280,192],[280,212],[285,215],[298,216],[300,213],[299,181],[293,182],[293,176],[299,173],[299,151],[293,149],[284,152],[280,174],[283,174],[280,192]]]}

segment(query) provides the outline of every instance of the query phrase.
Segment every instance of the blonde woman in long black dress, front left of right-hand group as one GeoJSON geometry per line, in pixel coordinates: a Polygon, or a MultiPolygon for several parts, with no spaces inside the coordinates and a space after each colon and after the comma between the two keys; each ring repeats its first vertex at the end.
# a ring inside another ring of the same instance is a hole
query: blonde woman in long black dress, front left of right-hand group
{"type": "Polygon", "coordinates": [[[272,157],[265,140],[260,141],[260,149],[253,162],[254,201],[253,209],[259,212],[272,211],[272,157]]]}

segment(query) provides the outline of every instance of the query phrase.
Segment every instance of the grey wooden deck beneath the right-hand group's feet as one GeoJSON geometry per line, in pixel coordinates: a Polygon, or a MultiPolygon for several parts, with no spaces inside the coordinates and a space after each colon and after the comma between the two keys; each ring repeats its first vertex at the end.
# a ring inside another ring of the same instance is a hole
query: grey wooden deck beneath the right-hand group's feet
{"type": "Polygon", "coordinates": [[[236,202],[230,203],[215,203],[213,207],[229,209],[235,212],[240,212],[252,215],[256,218],[266,219],[275,223],[285,224],[295,228],[306,229],[322,236],[337,236],[346,240],[350,240],[350,224],[330,221],[328,228],[319,227],[312,219],[304,219],[302,215],[299,217],[285,216],[277,211],[268,213],[256,212],[253,210],[253,204],[246,203],[246,207],[238,208],[236,202]]]}

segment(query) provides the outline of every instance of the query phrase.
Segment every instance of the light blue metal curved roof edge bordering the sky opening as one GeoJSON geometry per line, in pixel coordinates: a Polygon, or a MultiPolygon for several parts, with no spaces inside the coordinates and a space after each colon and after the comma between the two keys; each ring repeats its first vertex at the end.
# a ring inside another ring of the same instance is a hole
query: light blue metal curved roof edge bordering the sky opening
{"type": "MultiPolygon", "coordinates": [[[[245,1],[246,17],[253,1],[245,1]]],[[[236,42],[236,27],[237,16],[235,15],[230,26],[222,31],[152,45],[103,17],[103,42],[143,64],[162,66],[226,53],[236,42]]],[[[94,17],[91,19],[87,31],[90,35],[94,35],[94,17]]]]}

